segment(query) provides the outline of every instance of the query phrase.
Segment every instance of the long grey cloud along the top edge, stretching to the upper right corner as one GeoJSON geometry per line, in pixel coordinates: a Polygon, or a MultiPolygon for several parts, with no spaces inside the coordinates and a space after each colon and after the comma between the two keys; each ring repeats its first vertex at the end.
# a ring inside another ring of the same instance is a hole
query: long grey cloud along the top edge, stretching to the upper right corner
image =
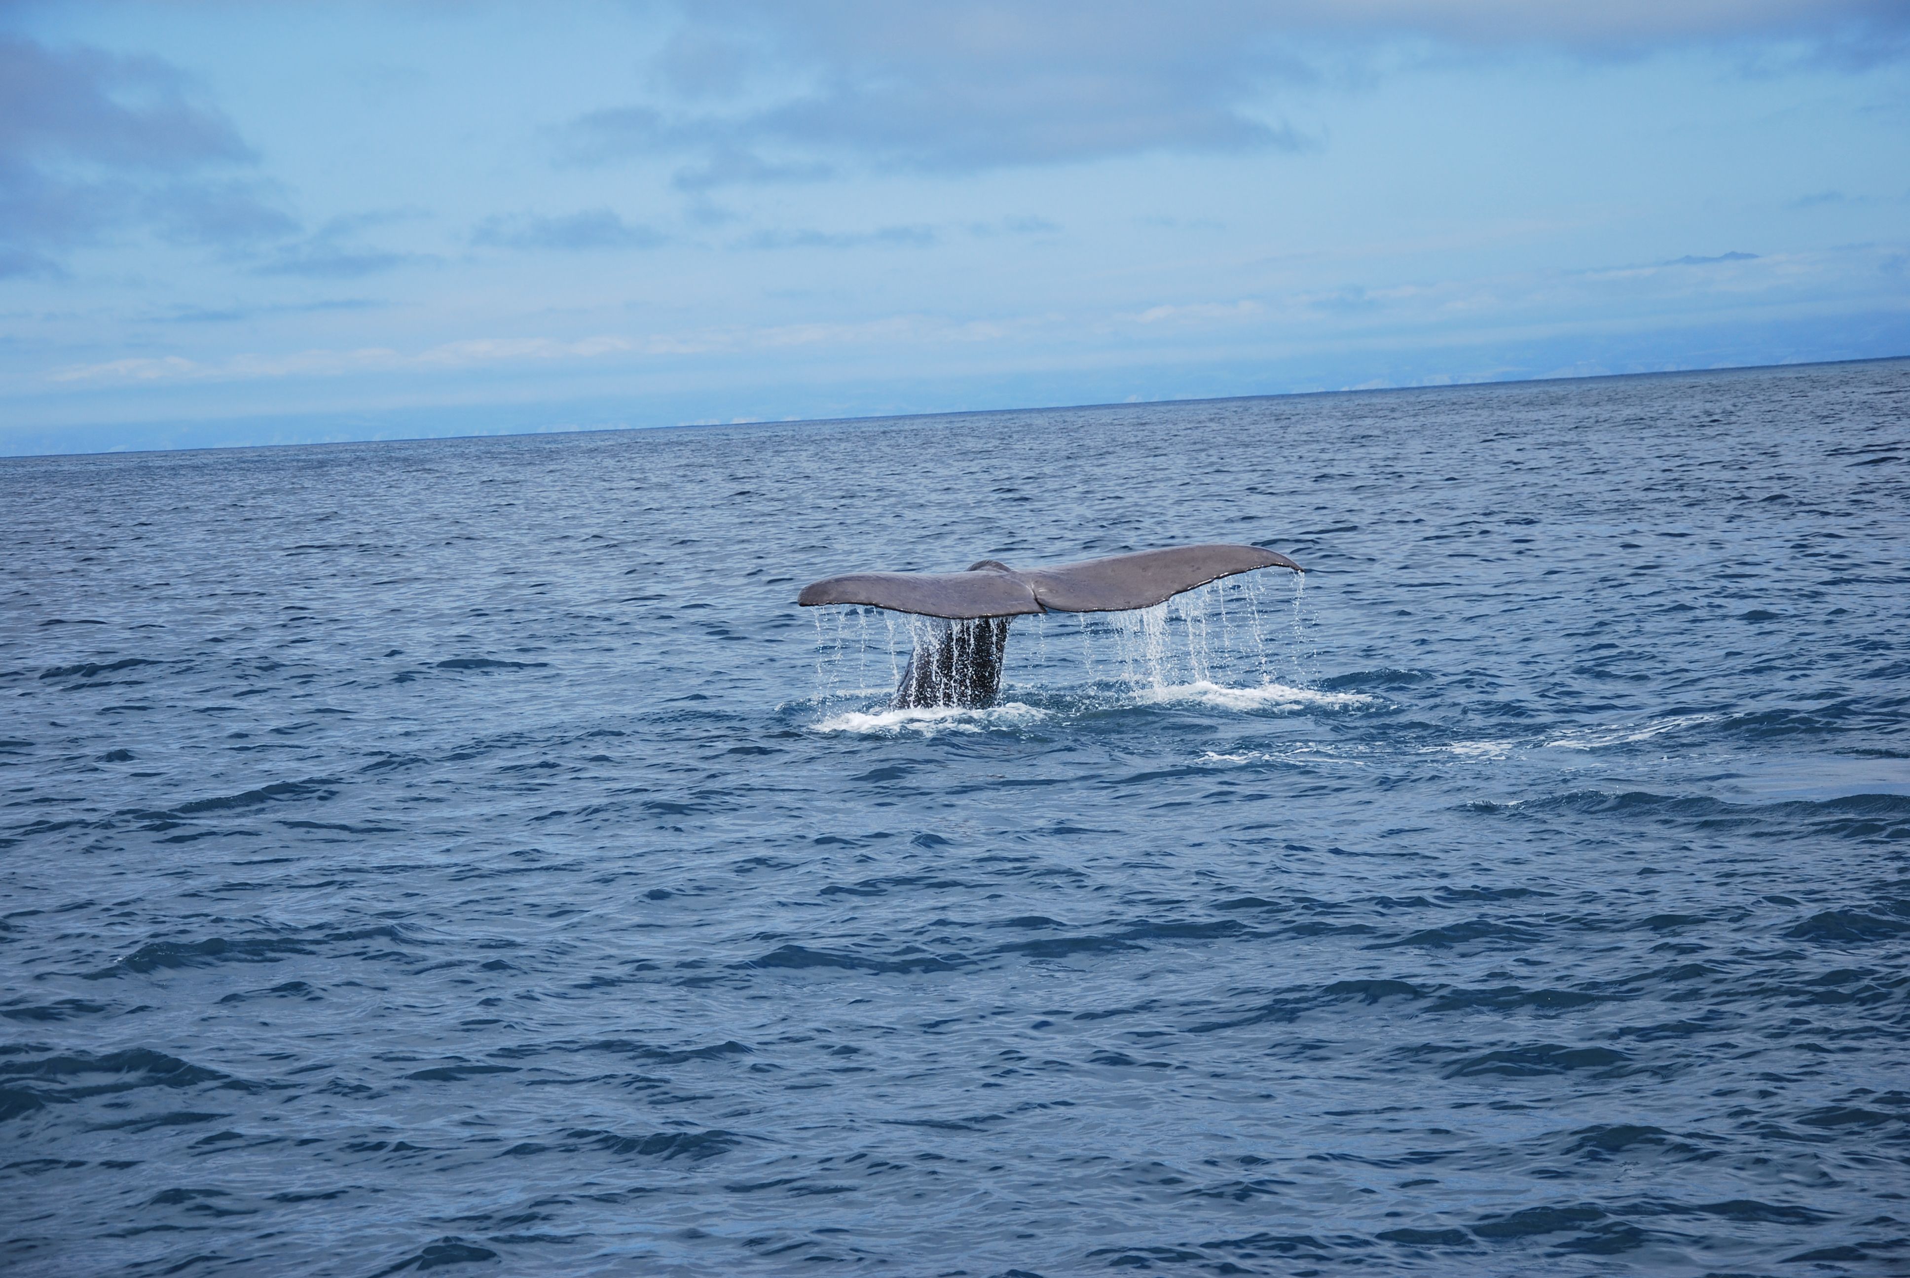
{"type": "Polygon", "coordinates": [[[1902,0],[701,0],[646,101],[558,130],[569,162],[674,157],[686,191],[1138,153],[1318,145],[1274,107],[1400,40],[1624,57],[1790,42],[1910,50],[1902,0]]]}

